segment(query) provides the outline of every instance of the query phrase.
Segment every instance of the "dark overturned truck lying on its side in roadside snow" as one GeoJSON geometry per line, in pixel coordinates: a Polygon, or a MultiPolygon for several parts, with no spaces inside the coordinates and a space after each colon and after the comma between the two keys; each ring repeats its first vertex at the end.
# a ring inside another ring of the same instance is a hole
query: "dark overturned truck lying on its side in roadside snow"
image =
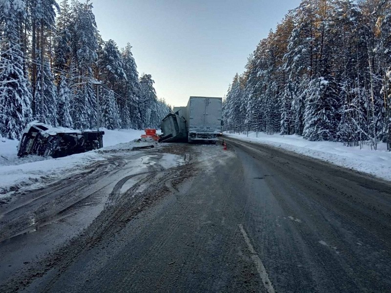
{"type": "Polygon", "coordinates": [[[103,146],[104,131],[61,131],[43,123],[26,126],[18,146],[18,156],[38,155],[60,158],[103,146]]]}

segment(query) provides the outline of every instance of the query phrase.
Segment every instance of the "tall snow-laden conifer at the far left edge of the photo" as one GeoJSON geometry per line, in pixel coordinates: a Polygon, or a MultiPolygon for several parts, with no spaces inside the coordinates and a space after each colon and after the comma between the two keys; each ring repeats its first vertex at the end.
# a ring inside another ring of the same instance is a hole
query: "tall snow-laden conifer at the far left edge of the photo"
{"type": "Polygon", "coordinates": [[[19,20],[25,18],[25,1],[3,0],[0,5],[0,135],[19,139],[31,119],[31,92],[23,75],[19,20]]]}

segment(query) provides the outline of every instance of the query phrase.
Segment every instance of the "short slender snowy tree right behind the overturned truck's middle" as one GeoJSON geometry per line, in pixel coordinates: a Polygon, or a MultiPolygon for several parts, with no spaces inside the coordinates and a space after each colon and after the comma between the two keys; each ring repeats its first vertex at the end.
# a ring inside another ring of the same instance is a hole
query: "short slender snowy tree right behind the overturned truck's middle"
{"type": "Polygon", "coordinates": [[[58,106],[57,119],[58,124],[64,127],[72,127],[72,117],[70,116],[71,92],[66,81],[65,74],[61,75],[60,85],[58,87],[58,106]]]}

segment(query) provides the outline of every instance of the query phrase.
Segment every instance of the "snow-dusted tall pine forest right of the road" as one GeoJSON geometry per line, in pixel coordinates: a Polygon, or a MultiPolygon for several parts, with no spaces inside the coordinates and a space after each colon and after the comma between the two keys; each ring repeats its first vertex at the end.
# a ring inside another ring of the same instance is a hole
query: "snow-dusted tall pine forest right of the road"
{"type": "Polygon", "coordinates": [[[236,74],[225,129],[391,143],[391,1],[303,0],[236,74]]]}

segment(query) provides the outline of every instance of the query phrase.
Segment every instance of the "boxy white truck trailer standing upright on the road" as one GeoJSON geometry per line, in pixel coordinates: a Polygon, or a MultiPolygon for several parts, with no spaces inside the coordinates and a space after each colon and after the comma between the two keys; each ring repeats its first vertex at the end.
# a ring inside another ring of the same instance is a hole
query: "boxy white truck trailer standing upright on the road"
{"type": "Polygon", "coordinates": [[[221,135],[221,98],[190,97],[184,110],[189,143],[216,143],[221,135]]]}

